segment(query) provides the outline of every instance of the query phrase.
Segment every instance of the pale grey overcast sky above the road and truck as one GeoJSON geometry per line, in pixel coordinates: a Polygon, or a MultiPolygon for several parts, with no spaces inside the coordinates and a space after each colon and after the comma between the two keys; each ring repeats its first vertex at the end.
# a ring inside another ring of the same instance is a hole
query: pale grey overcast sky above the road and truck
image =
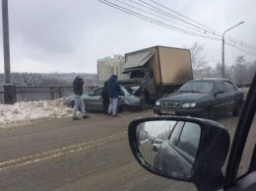
{"type": "MultiPolygon", "coordinates": [[[[241,55],[247,61],[256,60],[255,0],[156,0],[160,5],[151,0],[108,2],[160,23],[145,21],[97,0],[9,0],[11,71],[96,73],[97,59],[155,45],[191,47],[195,42],[204,45],[206,60],[215,67],[218,62],[222,63],[222,34],[218,36],[211,32],[223,33],[242,21],[244,24],[225,33],[243,42],[238,45],[229,41],[236,48],[225,45],[225,62],[233,64],[241,55]],[[159,12],[152,10],[156,8],[159,12]],[[174,20],[173,16],[187,23],[174,20]],[[171,27],[219,39],[177,32],[169,29],[171,27]]],[[[2,20],[0,22],[2,28],[2,20]]],[[[0,33],[2,36],[2,29],[0,33]]],[[[0,41],[3,44],[2,37],[0,41]]],[[[0,73],[3,73],[3,45],[0,48],[0,73]]]]}

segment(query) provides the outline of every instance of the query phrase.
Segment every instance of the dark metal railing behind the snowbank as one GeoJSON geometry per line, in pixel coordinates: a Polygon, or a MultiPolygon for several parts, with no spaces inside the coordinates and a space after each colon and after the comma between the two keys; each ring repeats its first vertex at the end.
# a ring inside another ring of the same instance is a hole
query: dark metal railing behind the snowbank
{"type": "MultiPolygon", "coordinates": [[[[96,87],[84,87],[84,94],[88,94],[96,87]]],[[[41,87],[16,87],[17,102],[54,100],[73,94],[73,87],[41,86],[41,87]]],[[[4,90],[0,87],[0,103],[4,103],[4,90]]]]}

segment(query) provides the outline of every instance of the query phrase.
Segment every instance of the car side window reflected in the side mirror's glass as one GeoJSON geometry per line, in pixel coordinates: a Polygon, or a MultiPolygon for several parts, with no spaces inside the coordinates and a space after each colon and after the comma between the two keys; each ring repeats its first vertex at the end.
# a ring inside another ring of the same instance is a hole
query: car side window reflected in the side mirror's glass
{"type": "Polygon", "coordinates": [[[177,147],[195,159],[200,135],[201,127],[198,124],[186,122],[178,140],[177,147]]]}

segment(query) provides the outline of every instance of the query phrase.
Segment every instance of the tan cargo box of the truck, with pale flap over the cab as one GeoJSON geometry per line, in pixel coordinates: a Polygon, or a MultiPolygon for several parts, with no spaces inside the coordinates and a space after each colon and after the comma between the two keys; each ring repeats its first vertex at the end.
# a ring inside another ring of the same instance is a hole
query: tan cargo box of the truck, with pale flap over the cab
{"type": "Polygon", "coordinates": [[[124,71],[151,68],[157,85],[184,84],[192,80],[189,49],[154,46],[125,54],[124,71]]]}

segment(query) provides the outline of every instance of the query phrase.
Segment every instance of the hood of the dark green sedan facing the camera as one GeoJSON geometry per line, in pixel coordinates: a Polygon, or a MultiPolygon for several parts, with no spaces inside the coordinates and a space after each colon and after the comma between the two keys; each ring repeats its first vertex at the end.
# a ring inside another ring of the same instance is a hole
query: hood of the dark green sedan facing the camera
{"type": "Polygon", "coordinates": [[[203,93],[174,93],[168,96],[162,96],[159,100],[160,101],[194,101],[205,96],[209,96],[209,94],[203,93]]]}

